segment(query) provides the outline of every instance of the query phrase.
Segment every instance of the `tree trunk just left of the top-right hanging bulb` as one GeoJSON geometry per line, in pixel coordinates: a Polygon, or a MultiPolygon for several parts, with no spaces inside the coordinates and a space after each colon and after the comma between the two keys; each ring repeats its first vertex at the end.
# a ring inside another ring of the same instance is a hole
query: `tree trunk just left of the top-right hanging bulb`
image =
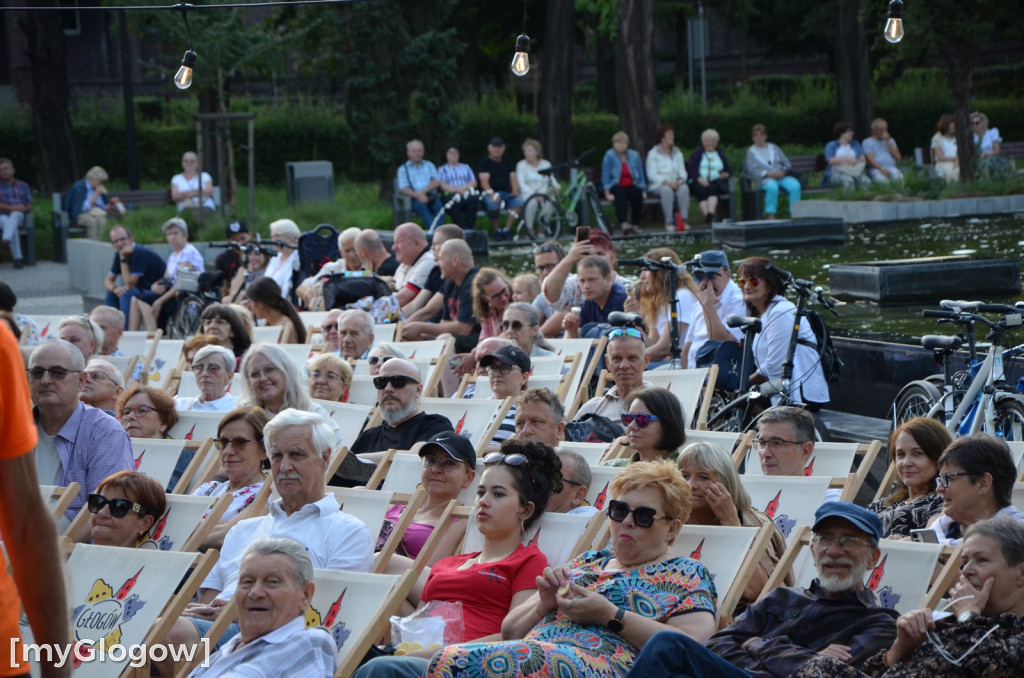
{"type": "Polygon", "coordinates": [[[874,99],[860,0],[839,0],[834,60],[839,119],[849,121],[858,137],[865,136],[871,129],[874,99]]]}

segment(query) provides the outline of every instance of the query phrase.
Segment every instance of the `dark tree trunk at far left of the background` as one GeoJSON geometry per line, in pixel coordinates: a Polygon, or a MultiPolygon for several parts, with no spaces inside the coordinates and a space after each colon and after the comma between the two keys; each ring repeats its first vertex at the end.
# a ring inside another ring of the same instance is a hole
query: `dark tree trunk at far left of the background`
{"type": "MultiPolygon", "coordinates": [[[[46,5],[55,2],[47,1],[46,5]]],[[[19,26],[32,78],[32,129],[39,147],[39,169],[47,192],[67,190],[83,174],[71,124],[63,29],[55,11],[25,12],[19,26]]]]}

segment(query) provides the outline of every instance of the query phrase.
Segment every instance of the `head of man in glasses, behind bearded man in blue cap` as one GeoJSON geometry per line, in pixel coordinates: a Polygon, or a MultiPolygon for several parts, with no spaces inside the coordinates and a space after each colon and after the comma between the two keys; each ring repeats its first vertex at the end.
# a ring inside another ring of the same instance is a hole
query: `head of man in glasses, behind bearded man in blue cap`
{"type": "MultiPolygon", "coordinates": [[[[766,410],[758,418],[758,436],[751,449],[761,459],[765,475],[803,476],[814,452],[814,415],[803,408],[779,406],[766,410]]],[[[825,492],[825,501],[838,501],[838,488],[825,492]]]]}

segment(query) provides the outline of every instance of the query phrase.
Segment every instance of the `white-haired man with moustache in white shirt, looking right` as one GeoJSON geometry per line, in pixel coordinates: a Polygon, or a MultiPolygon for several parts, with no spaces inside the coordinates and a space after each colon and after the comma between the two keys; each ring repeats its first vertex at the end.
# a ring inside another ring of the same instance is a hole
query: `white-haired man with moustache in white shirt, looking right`
{"type": "MultiPolygon", "coordinates": [[[[185,607],[168,643],[195,646],[237,590],[246,548],[258,539],[289,537],[305,547],[314,567],[369,571],[373,541],[362,521],[344,513],[325,492],[324,472],[331,460],[334,431],[314,413],[289,408],[263,428],[273,486],[281,499],[267,515],[242,520],[227,531],[220,558],[200,588],[198,603],[185,607]]],[[[231,624],[221,639],[239,631],[231,624]]],[[[155,663],[161,676],[173,676],[173,660],[155,663]]]]}

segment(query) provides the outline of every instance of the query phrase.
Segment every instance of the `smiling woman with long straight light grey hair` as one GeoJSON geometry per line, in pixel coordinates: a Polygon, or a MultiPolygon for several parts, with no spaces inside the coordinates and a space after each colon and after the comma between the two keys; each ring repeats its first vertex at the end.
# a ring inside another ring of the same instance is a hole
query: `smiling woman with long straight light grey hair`
{"type": "Polygon", "coordinates": [[[288,354],[276,344],[253,344],[242,358],[245,388],[243,405],[263,408],[273,418],[289,408],[318,414],[334,430],[335,446],[341,441],[341,427],[327,410],[309,401],[302,387],[302,375],[288,354]]]}

